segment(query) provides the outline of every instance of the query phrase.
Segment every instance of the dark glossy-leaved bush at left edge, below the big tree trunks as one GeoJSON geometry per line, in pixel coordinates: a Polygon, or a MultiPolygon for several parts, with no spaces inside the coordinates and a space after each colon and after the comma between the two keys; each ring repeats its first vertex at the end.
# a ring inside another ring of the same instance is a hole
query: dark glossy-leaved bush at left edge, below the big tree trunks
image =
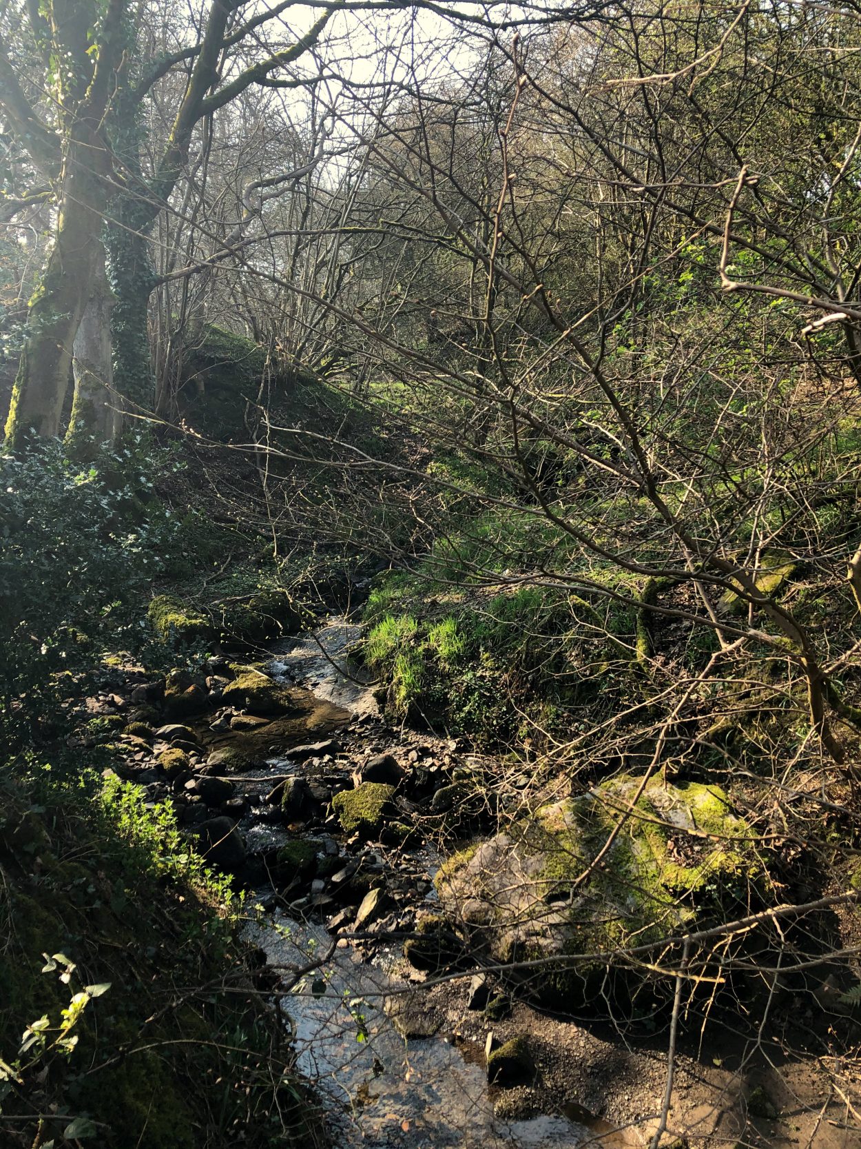
{"type": "Polygon", "coordinates": [[[78,470],[56,444],[0,455],[0,733],[25,742],[38,718],[110,642],[145,638],[140,602],[172,546],[173,524],[141,493],[152,461],[102,455],[78,470]]]}

